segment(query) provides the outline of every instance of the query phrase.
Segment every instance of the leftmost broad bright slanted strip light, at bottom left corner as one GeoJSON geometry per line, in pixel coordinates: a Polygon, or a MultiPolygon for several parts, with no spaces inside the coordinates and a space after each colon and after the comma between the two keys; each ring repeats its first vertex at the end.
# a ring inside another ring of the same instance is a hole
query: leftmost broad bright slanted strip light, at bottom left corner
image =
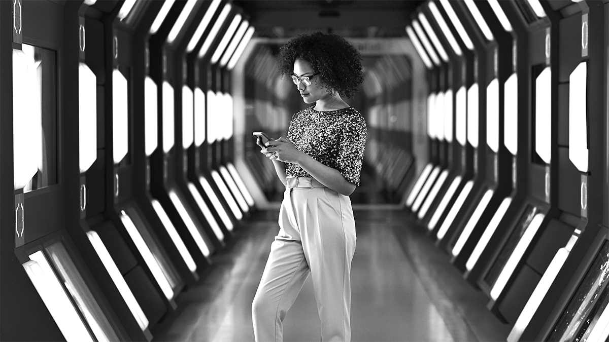
{"type": "Polygon", "coordinates": [[[63,290],[59,279],[42,251],[30,254],[30,259],[30,261],[23,263],[23,268],[66,341],[93,342],[91,334],[86,329],[85,324],[76,312],[74,304],[68,298],[66,291],[63,290]]]}

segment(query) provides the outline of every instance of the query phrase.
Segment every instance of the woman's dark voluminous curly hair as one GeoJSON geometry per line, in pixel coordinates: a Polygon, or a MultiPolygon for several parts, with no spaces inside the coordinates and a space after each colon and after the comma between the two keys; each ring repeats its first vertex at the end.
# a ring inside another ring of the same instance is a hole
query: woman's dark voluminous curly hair
{"type": "Polygon", "coordinates": [[[292,75],[294,61],[306,60],[319,74],[328,92],[351,97],[364,81],[362,55],[345,38],[333,33],[297,35],[281,47],[278,55],[281,75],[292,75]]]}

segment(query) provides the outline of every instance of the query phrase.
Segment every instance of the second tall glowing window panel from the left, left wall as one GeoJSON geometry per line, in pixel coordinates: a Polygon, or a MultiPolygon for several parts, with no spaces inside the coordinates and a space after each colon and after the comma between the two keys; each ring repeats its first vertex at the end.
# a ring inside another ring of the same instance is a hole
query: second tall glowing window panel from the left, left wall
{"type": "Polygon", "coordinates": [[[79,63],[79,166],[85,172],[97,159],[97,81],[85,63],[79,63]]]}

